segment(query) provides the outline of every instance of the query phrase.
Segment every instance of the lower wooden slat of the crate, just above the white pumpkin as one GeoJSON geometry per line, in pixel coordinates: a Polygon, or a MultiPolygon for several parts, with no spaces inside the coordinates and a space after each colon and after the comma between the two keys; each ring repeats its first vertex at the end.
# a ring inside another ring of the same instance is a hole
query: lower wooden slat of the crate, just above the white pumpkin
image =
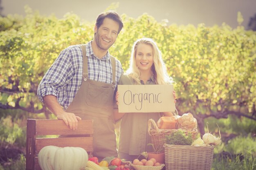
{"type": "Polygon", "coordinates": [[[86,152],[92,152],[92,137],[58,137],[58,138],[36,138],[36,154],[45,146],[58,147],[81,147],[86,152]]]}

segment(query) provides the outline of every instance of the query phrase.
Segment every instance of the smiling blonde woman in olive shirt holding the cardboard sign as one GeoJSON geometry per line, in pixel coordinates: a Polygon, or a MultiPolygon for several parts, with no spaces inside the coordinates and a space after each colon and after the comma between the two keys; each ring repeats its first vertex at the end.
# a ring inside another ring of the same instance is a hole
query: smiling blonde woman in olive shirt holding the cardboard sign
{"type": "MultiPolygon", "coordinates": [[[[172,84],[166,66],[162,60],[161,51],[150,38],[141,38],[132,46],[130,68],[122,75],[119,85],[139,84],[172,84]]],[[[175,99],[175,91],[173,92],[175,99]]],[[[116,100],[118,99],[118,93],[116,100]]],[[[117,101],[118,104],[118,101],[117,101]]],[[[115,106],[117,109],[117,106],[115,106]]],[[[152,152],[150,135],[148,134],[148,119],[157,121],[162,115],[177,115],[175,112],[165,113],[118,113],[115,110],[115,121],[121,120],[118,154],[121,159],[134,160],[141,152],[152,152]]]]}

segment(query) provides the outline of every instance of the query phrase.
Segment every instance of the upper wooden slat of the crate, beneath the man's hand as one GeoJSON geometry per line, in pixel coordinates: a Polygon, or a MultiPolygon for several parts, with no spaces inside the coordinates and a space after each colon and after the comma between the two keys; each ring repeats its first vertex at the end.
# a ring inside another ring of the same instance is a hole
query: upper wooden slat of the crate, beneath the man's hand
{"type": "Polygon", "coordinates": [[[63,120],[37,119],[36,135],[78,135],[93,134],[93,120],[78,121],[78,128],[72,130],[63,120]]]}

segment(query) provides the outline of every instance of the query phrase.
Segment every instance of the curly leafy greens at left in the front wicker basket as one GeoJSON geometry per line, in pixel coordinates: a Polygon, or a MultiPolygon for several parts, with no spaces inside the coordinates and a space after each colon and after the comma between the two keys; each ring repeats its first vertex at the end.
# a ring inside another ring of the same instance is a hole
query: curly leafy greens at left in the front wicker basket
{"type": "Polygon", "coordinates": [[[166,144],[169,145],[191,145],[192,142],[193,138],[191,132],[186,135],[181,129],[178,129],[170,135],[166,135],[166,144]]]}

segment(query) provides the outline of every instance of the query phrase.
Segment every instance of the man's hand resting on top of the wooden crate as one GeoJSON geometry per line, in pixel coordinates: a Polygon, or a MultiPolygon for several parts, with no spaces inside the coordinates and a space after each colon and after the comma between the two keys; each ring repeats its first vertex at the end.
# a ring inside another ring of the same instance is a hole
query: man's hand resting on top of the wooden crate
{"type": "Polygon", "coordinates": [[[76,116],[74,113],[63,111],[57,115],[57,119],[63,120],[67,126],[70,126],[70,129],[76,130],[78,127],[78,121],[81,120],[81,117],[76,116]]]}

